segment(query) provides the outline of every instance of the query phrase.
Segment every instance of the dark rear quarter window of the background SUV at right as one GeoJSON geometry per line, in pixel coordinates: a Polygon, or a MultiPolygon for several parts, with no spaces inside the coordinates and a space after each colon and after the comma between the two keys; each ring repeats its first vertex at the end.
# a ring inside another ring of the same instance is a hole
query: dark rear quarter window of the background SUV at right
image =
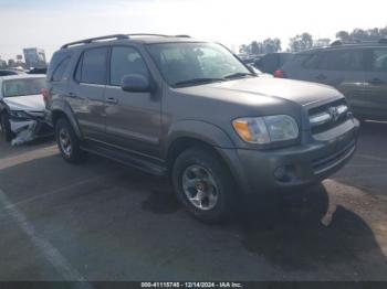
{"type": "Polygon", "coordinates": [[[318,67],[326,71],[363,71],[363,51],[338,50],[326,52],[318,67]]]}

